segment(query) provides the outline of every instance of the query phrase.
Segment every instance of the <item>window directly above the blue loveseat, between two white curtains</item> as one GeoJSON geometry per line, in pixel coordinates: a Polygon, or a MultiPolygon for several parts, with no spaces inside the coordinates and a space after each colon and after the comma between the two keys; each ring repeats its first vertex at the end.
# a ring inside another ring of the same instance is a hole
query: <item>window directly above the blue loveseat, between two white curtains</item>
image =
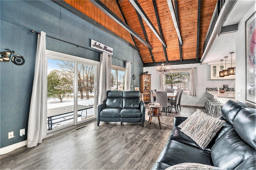
{"type": "Polygon", "coordinates": [[[111,69],[111,90],[124,90],[125,68],[112,66],[111,69]]]}

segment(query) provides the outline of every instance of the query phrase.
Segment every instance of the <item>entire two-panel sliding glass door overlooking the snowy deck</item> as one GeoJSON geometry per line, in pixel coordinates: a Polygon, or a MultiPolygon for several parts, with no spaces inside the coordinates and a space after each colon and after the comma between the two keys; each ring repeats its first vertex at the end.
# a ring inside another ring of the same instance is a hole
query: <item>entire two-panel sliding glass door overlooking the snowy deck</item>
{"type": "Polygon", "coordinates": [[[96,119],[97,64],[58,55],[47,55],[48,132],[96,119]]]}

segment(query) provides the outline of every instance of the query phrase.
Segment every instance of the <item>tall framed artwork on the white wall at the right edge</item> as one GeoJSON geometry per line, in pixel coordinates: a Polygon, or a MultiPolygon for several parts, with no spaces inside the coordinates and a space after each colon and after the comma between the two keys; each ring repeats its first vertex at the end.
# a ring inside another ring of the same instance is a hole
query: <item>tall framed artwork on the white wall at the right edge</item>
{"type": "Polygon", "coordinates": [[[246,101],[256,103],[256,12],[245,22],[246,101]]]}

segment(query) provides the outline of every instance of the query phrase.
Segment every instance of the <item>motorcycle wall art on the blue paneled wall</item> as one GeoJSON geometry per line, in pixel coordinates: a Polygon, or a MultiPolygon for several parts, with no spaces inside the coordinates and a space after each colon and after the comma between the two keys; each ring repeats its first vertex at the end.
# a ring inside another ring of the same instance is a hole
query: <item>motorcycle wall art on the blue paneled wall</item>
{"type": "Polygon", "coordinates": [[[25,63],[25,59],[21,55],[14,55],[15,51],[11,51],[10,49],[6,49],[7,51],[0,52],[0,62],[10,62],[12,61],[16,65],[23,65],[25,63]]]}

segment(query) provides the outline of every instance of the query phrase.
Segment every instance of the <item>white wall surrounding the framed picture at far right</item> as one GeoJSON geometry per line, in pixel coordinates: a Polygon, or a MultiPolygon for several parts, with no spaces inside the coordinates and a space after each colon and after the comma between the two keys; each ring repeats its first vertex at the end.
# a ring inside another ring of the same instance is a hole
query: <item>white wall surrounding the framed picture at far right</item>
{"type": "Polygon", "coordinates": [[[238,23],[236,33],[236,89],[241,89],[241,97],[236,92],[236,100],[241,101],[249,107],[256,108],[256,105],[246,101],[246,49],[245,49],[245,22],[255,12],[256,3],[248,10],[246,15],[238,23]]]}

